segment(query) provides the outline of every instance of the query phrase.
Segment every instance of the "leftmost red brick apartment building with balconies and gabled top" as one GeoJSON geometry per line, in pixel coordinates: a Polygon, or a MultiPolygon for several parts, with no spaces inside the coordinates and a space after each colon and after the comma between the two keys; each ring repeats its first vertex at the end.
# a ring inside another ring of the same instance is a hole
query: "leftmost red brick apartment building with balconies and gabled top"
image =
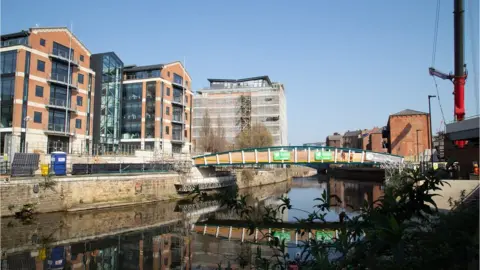
{"type": "Polygon", "coordinates": [[[1,36],[0,148],[69,151],[91,140],[90,51],[66,27],[1,36]],[[61,142],[61,144],[58,144],[61,142]],[[62,145],[63,149],[54,149],[62,145]]]}

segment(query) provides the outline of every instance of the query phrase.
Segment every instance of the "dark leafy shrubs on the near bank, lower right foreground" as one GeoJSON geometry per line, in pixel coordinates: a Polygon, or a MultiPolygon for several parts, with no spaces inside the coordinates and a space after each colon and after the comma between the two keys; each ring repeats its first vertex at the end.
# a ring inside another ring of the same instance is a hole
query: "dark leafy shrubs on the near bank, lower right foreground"
{"type": "MultiPolygon", "coordinates": [[[[263,237],[271,239],[268,245],[274,255],[266,256],[258,248],[238,262],[245,269],[289,269],[290,264],[300,269],[478,269],[478,201],[452,202],[452,211],[439,211],[433,198],[445,184],[433,174],[396,172],[384,195],[365,202],[358,215],[339,213],[341,226],[333,241],[312,238],[292,247],[275,238],[272,231],[263,237]],[[296,256],[289,254],[287,247],[297,248],[296,256]]],[[[283,198],[281,205],[262,209],[248,205],[245,196],[228,193],[221,201],[249,224],[250,234],[262,223],[278,223],[281,228],[279,214],[295,209],[288,198],[283,198]]],[[[302,225],[327,223],[326,214],[335,206],[331,202],[339,202],[339,198],[323,193],[315,201],[315,210],[307,218],[297,219],[299,234],[311,232],[302,225]]]]}

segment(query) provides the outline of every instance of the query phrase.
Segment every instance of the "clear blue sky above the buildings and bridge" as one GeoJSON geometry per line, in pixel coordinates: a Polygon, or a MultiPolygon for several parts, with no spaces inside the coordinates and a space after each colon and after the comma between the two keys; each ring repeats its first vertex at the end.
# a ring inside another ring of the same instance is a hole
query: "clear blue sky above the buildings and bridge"
{"type": "MultiPolygon", "coordinates": [[[[269,75],[285,84],[289,142],[301,144],[335,131],[386,125],[389,114],[406,108],[428,111],[427,95],[436,94],[427,71],[436,2],[3,0],[1,32],[73,22],[90,51],[115,51],[125,64],[186,57],[194,89],[211,77],[269,75]]],[[[436,67],[449,72],[453,1],[441,2],[436,67]]],[[[466,8],[466,107],[474,115],[478,1],[466,0],[466,8]],[[476,20],[475,29],[469,18],[476,20]]],[[[453,118],[452,89],[450,82],[439,82],[447,121],[453,118]]],[[[435,131],[441,121],[436,100],[432,114],[435,131]]]]}

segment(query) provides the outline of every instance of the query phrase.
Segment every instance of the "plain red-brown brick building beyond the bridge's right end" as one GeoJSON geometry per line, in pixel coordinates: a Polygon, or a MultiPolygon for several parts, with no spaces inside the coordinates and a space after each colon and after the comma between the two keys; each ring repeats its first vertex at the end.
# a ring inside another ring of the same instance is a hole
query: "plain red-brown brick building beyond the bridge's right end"
{"type": "Polygon", "coordinates": [[[429,149],[429,116],[427,113],[406,109],[392,114],[382,131],[388,152],[400,156],[418,156],[429,149]]]}

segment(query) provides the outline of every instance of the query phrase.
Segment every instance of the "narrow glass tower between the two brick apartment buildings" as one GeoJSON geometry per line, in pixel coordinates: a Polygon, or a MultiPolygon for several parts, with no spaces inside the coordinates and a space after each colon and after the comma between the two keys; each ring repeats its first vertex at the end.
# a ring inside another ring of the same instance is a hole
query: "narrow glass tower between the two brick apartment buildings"
{"type": "Polygon", "coordinates": [[[102,97],[98,113],[100,113],[100,143],[109,146],[109,149],[117,147],[120,140],[122,69],[123,63],[117,57],[112,54],[103,55],[102,97]]]}

